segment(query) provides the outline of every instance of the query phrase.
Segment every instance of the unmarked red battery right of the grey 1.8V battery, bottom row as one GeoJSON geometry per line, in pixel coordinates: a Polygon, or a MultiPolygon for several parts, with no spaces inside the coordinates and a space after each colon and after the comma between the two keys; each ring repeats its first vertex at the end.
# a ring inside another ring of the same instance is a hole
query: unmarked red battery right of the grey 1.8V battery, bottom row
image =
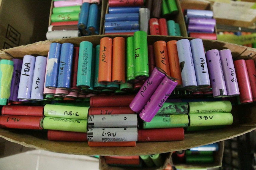
{"type": "Polygon", "coordinates": [[[138,130],[138,142],[176,140],[184,140],[184,129],[182,127],[138,130]]]}

